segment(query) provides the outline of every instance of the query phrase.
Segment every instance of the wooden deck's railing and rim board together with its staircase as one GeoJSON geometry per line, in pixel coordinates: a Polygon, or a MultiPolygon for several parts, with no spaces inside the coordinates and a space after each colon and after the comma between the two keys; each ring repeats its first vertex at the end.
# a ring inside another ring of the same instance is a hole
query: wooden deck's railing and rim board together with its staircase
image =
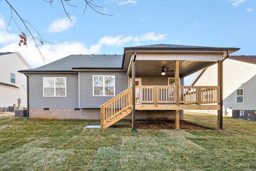
{"type": "MultiPolygon", "coordinates": [[[[176,86],[136,86],[135,109],[220,110],[220,86],[178,87],[179,98],[176,98],[176,86]]],[[[100,127],[109,127],[130,114],[132,106],[130,87],[100,106],[100,127]]]]}

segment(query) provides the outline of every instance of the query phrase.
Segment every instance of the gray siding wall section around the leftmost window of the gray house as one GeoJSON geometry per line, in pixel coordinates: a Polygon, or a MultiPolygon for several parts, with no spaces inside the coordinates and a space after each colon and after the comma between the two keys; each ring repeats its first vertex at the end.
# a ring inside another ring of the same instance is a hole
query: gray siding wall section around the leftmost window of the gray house
{"type": "Polygon", "coordinates": [[[78,108],[78,74],[28,74],[30,108],[78,108]],[[66,77],[66,97],[44,97],[44,77],[66,77]]]}

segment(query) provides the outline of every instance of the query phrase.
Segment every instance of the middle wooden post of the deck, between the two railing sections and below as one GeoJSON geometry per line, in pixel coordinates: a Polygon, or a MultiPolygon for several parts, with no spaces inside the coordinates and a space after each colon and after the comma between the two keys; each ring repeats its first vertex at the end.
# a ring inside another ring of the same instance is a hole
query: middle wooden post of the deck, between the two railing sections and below
{"type": "MultiPolygon", "coordinates": [[[[176,86],[176,105],[180,105],[180,70],[179,61],[175,61],[175,86],[176,86]]],[[[180,111],[176,110],[175,114],[175,129],[180,129],[180,111]]]]}

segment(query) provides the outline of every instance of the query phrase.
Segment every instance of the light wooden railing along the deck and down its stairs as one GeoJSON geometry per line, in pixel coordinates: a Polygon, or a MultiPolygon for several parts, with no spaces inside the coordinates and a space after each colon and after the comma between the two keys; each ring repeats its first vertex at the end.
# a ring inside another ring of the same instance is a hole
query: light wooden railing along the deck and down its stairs
{"type": "MultiPolygon", "coordinates": [[[[135,100],[140,104],[176,104],[176,86],[136,86],[135,100]]],[[[179,86],[179,104],[220,103],[219,86],[179,86]]],[[[100,106],[101,126],[132,107],[132,87],[100,106]]],[[[127,114],[127,113],[126,113],[127,114]]]]}

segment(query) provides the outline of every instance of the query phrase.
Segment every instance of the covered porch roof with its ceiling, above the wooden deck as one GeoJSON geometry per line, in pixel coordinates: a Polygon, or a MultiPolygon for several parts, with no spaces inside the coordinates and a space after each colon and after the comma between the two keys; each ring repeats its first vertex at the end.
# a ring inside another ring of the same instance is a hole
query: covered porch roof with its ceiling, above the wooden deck
{"type": "MultiPolygon", "coordinates": [[[[156,70],[162,67],[174,70],[175,60],[179,60],[179,75],[185,77],[223,60],[239,49],[168,44],[128,47],[123,52],[123,69],[127,75],[131,74],[131,61],[136,50],[136,75],[159,75],[161,73],[156,70]]],[[[174,72],[166,72],[166,75],[173,76],[174,72]]]]}

